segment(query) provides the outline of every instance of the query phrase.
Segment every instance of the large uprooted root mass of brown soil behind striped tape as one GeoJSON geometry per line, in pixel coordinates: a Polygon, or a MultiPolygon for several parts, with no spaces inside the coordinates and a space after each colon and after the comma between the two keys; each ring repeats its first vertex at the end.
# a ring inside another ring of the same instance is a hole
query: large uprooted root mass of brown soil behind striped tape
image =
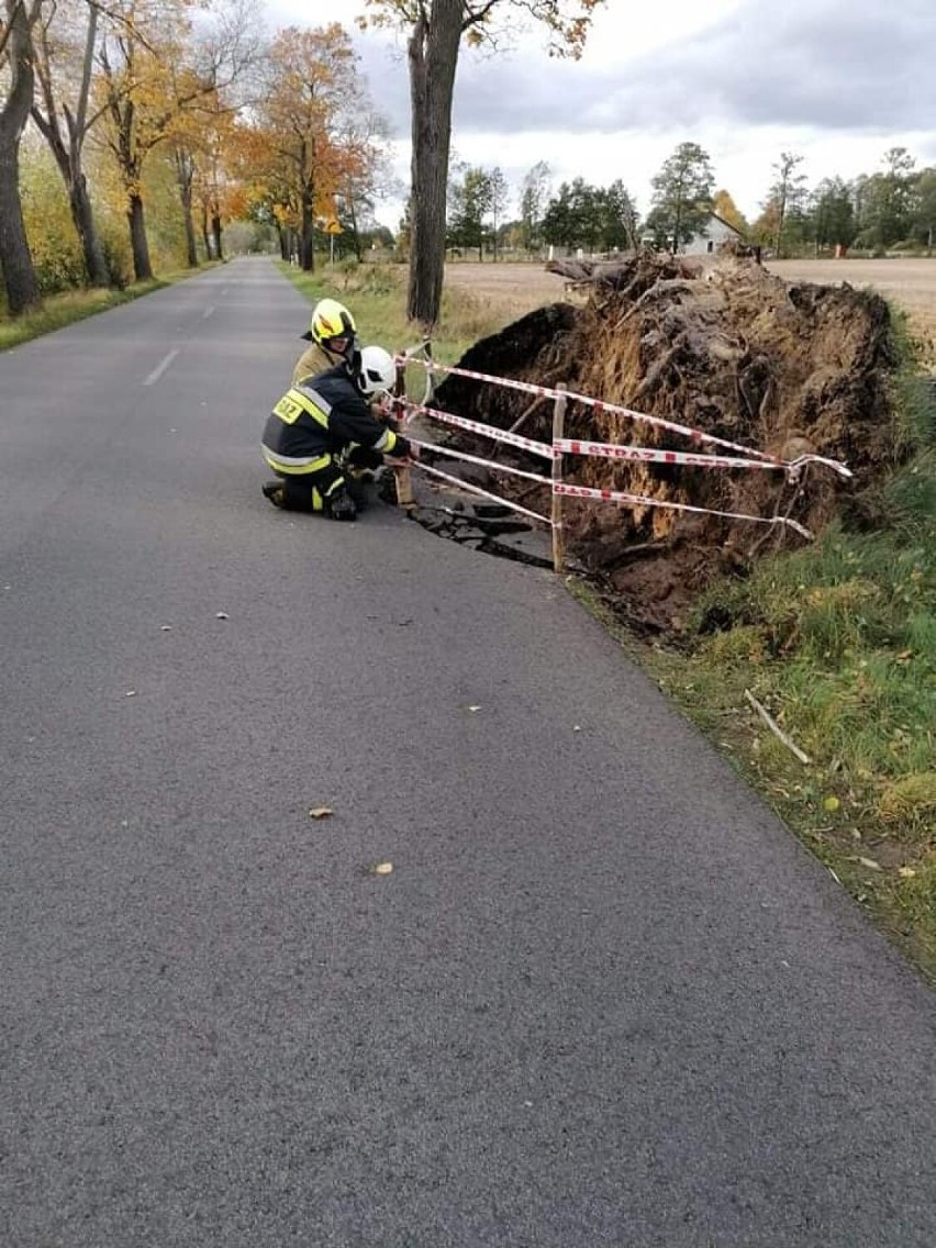
{"type": "MultiPolygon", "coordinates": [[[[812,453],[854,473],[845,482],[811,464],[790,479],[781,470],[565,459],[572,483],[659,502],[782,515],[817,533],[836,514],[860,513],[866,487],[896,457],[896,357],[885,301],[849,286],[789,285],[745,257],[704,267],[641,253],[602,266],[584,306],[540,308],[475,343],[459,367],[562,384],[784,461],[812,453]]],[[[549,398],[452,376],[433,406],[552,439],[549,398]]],[[[574,401],[565,436],[733,454],[574,401]]],[[[480,437],[458,432],[441,441],[492,454],[490,441],[480,437]]],[[[542,459],[532,463],[503,446],[495,454],[499,463],[548,475],[542,459]]],[[[487,469],[475,469],[474,480],[549,513],[548,487],[487,469]]],[[[564,500],[564,522],[570,554],[605,585],[622,614],[661,631],[679,631],[714,574],[744,573],[765,552],[806,540],[780,524],[573,498],[564,500]]]]}

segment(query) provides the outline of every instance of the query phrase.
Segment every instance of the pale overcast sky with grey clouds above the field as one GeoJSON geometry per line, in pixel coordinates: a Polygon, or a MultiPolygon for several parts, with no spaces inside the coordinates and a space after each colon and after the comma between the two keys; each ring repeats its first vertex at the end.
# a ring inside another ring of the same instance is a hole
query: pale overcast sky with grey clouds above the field
{"type": "MultiPolygon", "coordinates": [[[[352,32],[408,182],[404,44],[361,35],[362,7],[267,0],[267,17],[273,27],[337,20],[352,32]]],[[[810,186],[872,173],[889,147],[936,165],[936,0],[608,0],[577,62],[550,60],[534,27],[495,56],[461,54],[454,151],[499,166],[514,188],[544,160],[554,187],[622,178],[645,215],[650,178],[685,141],[709,154],[716,188],[749,218],[781,151],[804,156],[810,186]]],[[[377,208],[391,228],[399,213],[399,200],[377,208]]]]}

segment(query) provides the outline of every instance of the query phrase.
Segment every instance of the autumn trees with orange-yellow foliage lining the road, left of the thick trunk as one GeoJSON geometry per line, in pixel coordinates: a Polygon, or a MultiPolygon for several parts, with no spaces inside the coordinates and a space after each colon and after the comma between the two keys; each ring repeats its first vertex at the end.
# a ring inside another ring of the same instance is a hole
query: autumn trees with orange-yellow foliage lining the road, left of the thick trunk
{"type": "Polygon", "coordinates": [[[341,26],[268,36],[252,0],[1,2],[0,270],[10,313],[50,290],[52,267],[34,257],[56,196],[46,183],[45,212],[29,203],[42,151],[74,231],[59,246],[80,251],[54,272],[77,268],[87,286],[152,278],[146,201],[166,181],[190,266],[222,257],[233,217],[266,223],[305,267],[331,218],[341,215],[352,237],[368,221],[389,180],[388,127],[341,26]],[[101,226],[115,216],[122,241],[101,226]]]}

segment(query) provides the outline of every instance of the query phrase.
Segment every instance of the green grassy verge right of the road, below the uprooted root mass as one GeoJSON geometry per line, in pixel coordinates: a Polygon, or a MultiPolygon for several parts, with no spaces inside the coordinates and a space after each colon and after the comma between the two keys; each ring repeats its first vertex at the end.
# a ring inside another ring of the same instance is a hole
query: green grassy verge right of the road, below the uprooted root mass
{"type": "Polygon", "coordinates": [[[764,559],[709,589],[678,646],[630,650],[936,982],[936,389],[901,351],[910,459],[880,524],[764,559]]]}

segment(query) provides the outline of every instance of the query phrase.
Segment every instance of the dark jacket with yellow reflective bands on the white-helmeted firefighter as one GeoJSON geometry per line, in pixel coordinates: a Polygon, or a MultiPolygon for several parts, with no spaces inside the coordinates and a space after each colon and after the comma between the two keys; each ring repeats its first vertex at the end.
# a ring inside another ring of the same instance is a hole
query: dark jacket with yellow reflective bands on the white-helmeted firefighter
{"type": "Polygon", "coordinates": [[[351,446],[409,453],[407,439],[373,416],[343,364],[288,389],[263,429],[263,458],[286,475],[319,472],[351,446]]]}

